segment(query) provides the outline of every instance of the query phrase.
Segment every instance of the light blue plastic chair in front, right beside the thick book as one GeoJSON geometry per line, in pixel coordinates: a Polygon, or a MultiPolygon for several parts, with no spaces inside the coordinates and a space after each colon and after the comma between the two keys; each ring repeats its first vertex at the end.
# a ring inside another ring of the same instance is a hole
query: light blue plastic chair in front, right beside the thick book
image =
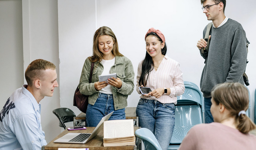
{"type": "Polygon", "coordinates": [[[135,135],[142,140],[145,150],[162,150],[154,134],[149,129],[137,129],[135,135]]]}

